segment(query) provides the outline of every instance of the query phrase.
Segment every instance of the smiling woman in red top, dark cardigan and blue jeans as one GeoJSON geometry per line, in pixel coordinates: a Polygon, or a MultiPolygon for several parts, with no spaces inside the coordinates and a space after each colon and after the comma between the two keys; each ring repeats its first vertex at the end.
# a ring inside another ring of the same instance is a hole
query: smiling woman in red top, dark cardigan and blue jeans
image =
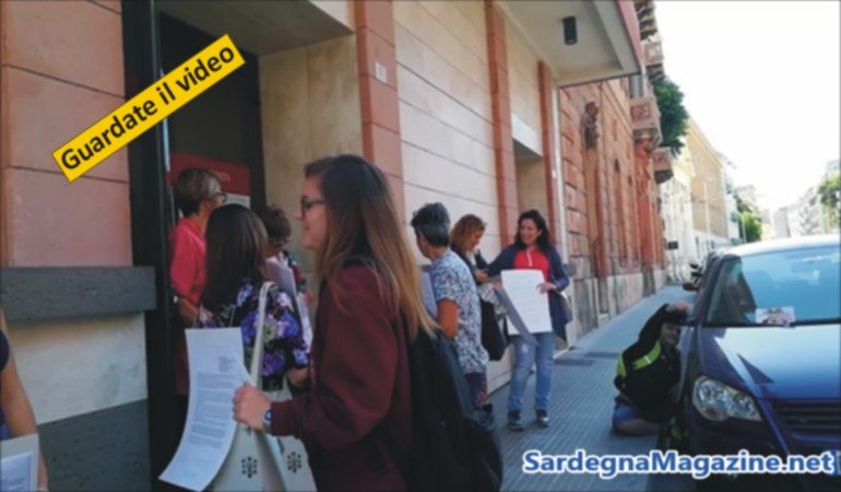
{"type": "Polygon", "coordinates": [[[544,281],[535,285],[542,293],[549,295],[552,331],[535,332],[537,347],[532,347],[522,337],[511,337],[514,345],[514,368],[511,375],[511,389],[508,396],[508,427],[522,431],[523,394],[532,364],[537,366],[537,384],[534,395],[534,412],[537,425],[549,425],[549,397],[552,393],[553,355],[555,336],[566,338],[568,319],[561,305],[560,292],[569,285],[569,278],[564,272],[560,254],[552,245],[546,220],[536,210],[523,212],[517,221],[518,232],[514,244],[505,248],[488,266],[490,277],[502,270],[532,269],[543,273],[544,281]]]}

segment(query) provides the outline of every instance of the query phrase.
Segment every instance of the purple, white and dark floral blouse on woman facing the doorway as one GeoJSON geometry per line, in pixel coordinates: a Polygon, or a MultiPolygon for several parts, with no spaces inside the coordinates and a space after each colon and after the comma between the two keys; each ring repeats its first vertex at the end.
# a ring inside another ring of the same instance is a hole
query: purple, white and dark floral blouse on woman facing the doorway
{"type": "MultiPolygon", "coordinates": [[[[254,351],[260,286],[246,280],[237,292],[235,303],[222,305],[214,311],[202,306],[199,313],[201,328],[239,327],[242,332],[246,368],[251,366],[251,355],[254,351]]],[[[269,289],[263,329],[262,389],[272,391],[283,387],[283,378],[288,368],[309,365],[309,347],[304,341],[292,300],[277,285],[269,289]]]]}

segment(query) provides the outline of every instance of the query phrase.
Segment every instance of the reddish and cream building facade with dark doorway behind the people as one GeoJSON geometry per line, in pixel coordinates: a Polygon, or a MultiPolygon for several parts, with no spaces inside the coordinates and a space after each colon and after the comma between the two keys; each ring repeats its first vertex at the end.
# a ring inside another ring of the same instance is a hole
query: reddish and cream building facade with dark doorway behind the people
{"type": "MultiPolygon", "coordinates": [[[[486,257],[536,208],[571,266],[571,342],[662,285],[652,149],[630,114],[638,15],[626,1],[0,2],[0,286],[52,487],[150,490],[178,443],[168,183],[185,166],[293,212],[304,164],[359,153],[405,232],[441,201],[487,222],[486,257]],[[55,149],[222,34],[241,69],[67,181],[55,149]]],[[[509,371],[494,363],[491,388],[509,371]]]]}

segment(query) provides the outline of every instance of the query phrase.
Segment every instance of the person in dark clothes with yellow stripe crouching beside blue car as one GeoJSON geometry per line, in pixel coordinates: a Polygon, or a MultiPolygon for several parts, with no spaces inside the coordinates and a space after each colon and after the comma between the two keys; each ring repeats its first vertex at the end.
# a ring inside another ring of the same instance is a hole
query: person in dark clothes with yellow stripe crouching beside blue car
{"type": "Polygon", "coordinates": [[[677,340],[688,308],[683,302],[661,306],[619,356],[614,378],[619,390],[613,412],[616,432],[656,434],[675,415],[674,395],[680,380],[677,340]]]}

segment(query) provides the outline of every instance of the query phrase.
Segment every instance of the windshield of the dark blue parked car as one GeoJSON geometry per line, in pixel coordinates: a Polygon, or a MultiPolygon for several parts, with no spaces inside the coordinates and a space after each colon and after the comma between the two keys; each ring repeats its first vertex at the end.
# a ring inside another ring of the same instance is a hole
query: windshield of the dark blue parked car
{"type": "Polygon", "coordinates": [[[707,325],[789,325],[838,320],[838,246],[726,258],[710,294],[707,325]]]}

